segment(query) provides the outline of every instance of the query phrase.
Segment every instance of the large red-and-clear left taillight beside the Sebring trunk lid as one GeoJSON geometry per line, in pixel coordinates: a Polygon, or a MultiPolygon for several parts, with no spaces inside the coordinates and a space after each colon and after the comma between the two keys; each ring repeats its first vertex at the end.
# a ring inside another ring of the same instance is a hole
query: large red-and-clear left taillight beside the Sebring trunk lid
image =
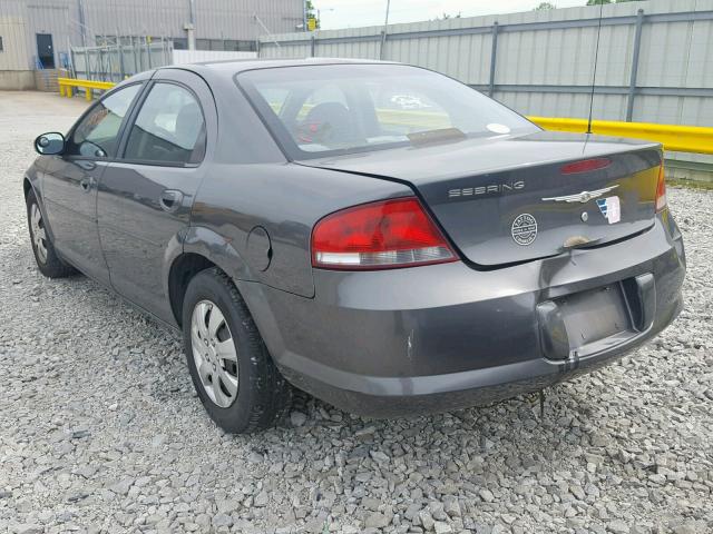
{"type": "Polygon", "coordinates": [[[336,211],[312,231],[314,267],[388,269],[456,259],[443,235],[412,197],[336,211]]]}

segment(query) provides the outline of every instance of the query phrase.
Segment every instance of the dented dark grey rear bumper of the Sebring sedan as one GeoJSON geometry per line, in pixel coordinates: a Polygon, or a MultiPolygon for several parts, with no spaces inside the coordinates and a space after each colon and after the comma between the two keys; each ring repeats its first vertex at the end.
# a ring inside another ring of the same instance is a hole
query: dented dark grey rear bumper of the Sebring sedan
{"type": "Polygon", "coordinates": [[[290,382],[348,412],[393,416],[487,404],[600,367],[671,324],[684,274],[681,235],[664,211],[633,239],[509,268],[315,269],[313,299],[238,287],[290,382]],[[570,347],[543,309],[604,286],[628,288],[629,324],[570,347]]]}

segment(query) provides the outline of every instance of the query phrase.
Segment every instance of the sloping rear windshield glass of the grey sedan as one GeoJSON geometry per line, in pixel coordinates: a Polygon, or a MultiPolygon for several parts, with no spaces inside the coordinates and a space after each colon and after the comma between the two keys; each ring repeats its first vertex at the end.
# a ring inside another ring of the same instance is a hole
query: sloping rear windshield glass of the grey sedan
{"type": "Polygon", "coordinates": [[[538,129],[475,89],[418,67],[279,67],[236,80],[292,159],[538,129]]]}

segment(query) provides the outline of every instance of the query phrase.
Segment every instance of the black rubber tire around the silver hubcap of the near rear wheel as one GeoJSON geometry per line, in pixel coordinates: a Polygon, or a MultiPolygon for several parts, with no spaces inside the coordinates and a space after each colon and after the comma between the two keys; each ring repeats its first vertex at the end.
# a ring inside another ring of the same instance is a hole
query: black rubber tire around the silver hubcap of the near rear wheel
{"type": "Polygon", "coordinates": [[[188,284],[183,304],[183,334],[193,385],[206,412],[221,428],[233,434],[250,434],[284,418],[292,404],[292,386],[273,363],[237,288],[221,269],[203,270],[188,284]],[[192,318],[196,305],[204,300],[219,308],[237,354],[237,394],[227,407],[211,399],[193,356],[192,318]]]}

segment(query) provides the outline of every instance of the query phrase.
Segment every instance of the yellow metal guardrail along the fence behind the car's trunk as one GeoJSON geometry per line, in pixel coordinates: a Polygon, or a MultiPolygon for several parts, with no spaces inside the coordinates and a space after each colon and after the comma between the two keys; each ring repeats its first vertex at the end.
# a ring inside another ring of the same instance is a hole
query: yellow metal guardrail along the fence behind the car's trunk
{"type": "MultiPolygon", "coordinates": [[[[528,117],[528,119],[546,130],[587,131],[586,119],[559,119],[553,117],[528,117]]],[[[666,150],[676,152],[713,154],[713,128],[593,120],[592,131],[602,136],[632,137],[634,139],[657,141],[666,150]]]]}

